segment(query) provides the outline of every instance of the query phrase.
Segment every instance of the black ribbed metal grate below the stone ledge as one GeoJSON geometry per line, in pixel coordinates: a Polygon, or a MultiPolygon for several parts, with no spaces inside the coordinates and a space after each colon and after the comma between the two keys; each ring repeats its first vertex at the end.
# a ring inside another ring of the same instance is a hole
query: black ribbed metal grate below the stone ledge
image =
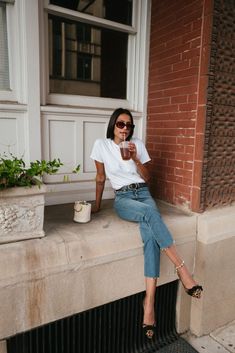
{"type": "Polygon", "coordinates": [[[157,334],[143,336],[144,293],[64,318],[7,340],[8,353],[147,353],[178,339],[175,307],[178,281],[156,294],[157,334]]]}

